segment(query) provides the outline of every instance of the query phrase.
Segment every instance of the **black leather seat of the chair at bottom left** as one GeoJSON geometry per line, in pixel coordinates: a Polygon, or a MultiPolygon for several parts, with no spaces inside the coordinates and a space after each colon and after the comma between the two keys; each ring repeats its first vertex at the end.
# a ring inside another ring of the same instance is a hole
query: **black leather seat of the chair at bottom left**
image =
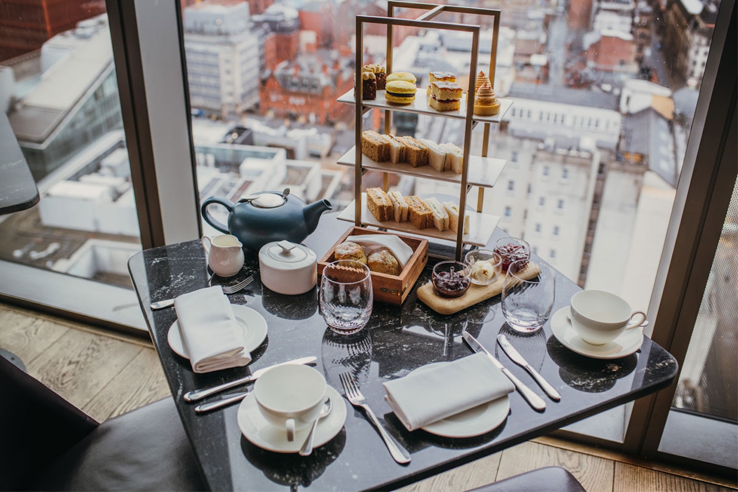
{"type": "Polygon", "coordinates": [[[30,489],[201,491],[205,485],[174,402],[165,398],[101,423],[30,489]]]}

